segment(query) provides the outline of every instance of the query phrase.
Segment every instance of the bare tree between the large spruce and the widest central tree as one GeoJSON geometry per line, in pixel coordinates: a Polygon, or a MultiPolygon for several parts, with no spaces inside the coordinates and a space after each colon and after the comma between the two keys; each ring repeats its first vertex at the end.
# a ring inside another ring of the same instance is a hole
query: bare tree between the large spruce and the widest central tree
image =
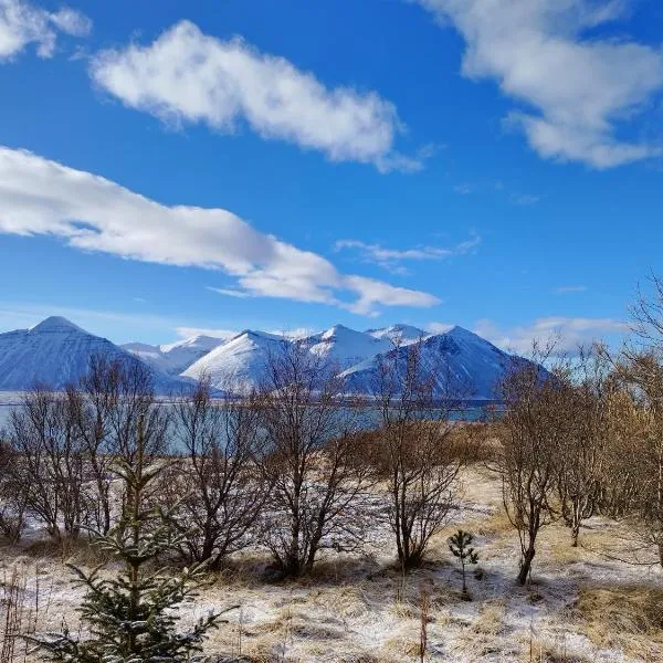
{"type": "Polygon", "coordinates": [[[189,561],[217,568],[245,547],[270,497],[256,471],[263,452],[259,413],[251,399],[212,400],[209,380],[173,406],[173,434],[183,463],[167,476],[169,502],[179,502],[173,524],[189,561]]]}

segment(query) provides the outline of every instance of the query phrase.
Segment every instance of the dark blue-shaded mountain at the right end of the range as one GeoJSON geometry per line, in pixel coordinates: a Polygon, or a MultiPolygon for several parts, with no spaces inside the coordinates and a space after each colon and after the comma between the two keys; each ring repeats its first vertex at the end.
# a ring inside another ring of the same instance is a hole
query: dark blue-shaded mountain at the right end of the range
{"type": "MultiPolygon", "coordinates": [[[[493,400],[497,398],[499,380],[513,369],[514,362],[525,361],[504,352],[481,336],[462,327],[432,335],[421,343],[423,373],[434,375],[435,398],[463,398],[466,400],[493,400]]],[[[375,396],[380,376],[380,362],[387,366],[396,358],[396,379],[404,381],[407,346],[367,359],[348,368],[340,377],[347,393],[375,396]]]]}

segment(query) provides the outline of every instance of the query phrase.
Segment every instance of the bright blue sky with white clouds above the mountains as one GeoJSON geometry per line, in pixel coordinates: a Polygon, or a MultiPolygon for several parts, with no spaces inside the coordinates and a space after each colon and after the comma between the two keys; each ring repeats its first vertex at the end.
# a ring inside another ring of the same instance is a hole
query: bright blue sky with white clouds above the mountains
{"type": "Polygon", "coordinates": [[[0,332],[624,329],[663,3],[0,0],[0,332]]]}

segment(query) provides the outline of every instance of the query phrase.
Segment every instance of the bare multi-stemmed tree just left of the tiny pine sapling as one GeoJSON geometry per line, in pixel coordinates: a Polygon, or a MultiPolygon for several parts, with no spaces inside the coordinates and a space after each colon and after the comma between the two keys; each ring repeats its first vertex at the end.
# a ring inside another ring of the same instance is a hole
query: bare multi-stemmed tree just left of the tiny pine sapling
{"type": "Polygon", "coordinates": [[[376,457],[388,485],[388,519],[403,571],[422,562],[431,537],[457,505],[457,476],[472,444],[457,444],[453,434],[450,415],[460,387],[444,366],[425,366],[421,348],[421,340],[397,343],[380,356],[373,387],[380,427],[376,457]],[[443,393],[435,392],[440,383],[443,393]]]}

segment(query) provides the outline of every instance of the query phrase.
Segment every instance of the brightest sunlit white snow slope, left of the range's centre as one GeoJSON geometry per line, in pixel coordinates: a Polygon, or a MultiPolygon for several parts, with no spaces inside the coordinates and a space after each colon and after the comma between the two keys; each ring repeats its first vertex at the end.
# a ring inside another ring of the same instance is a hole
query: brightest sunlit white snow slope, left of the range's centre
{"type": "Polygon", "coordinates": [[[222,391],[250,391],[263,381],[270,356],[287,343],[283,336],[246,329],[204,355],[181,375],[194,380],[207,376],[212,387],[222,391]]]}

